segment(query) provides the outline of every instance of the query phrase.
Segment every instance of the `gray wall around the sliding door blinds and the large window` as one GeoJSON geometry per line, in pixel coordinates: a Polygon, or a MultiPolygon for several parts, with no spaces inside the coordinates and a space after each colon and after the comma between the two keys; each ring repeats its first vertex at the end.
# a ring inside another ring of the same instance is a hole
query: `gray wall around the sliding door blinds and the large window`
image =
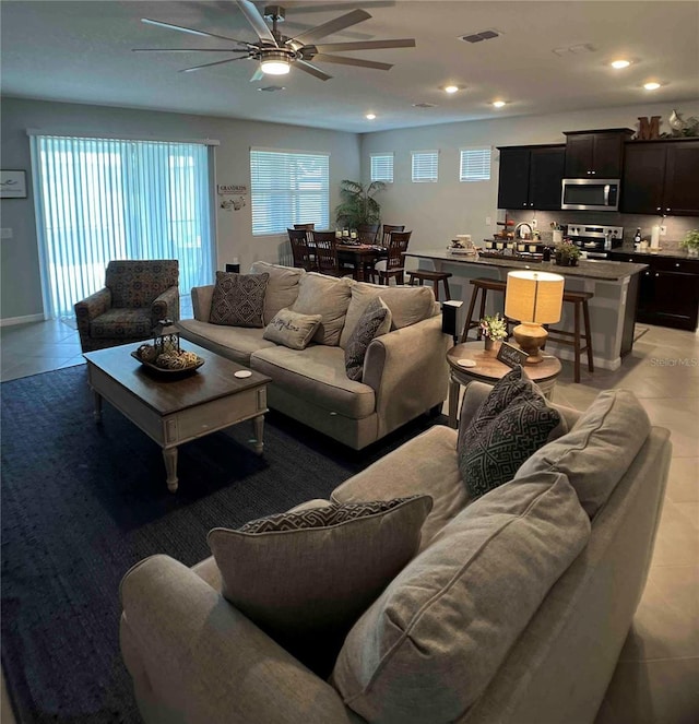
{"type": "MultiPolygon", "coordinates": [[[[217,183],[250,186],[250,146],[316,151],[330,154],[330,209],[340,202],[337,189],[345,178],[359,178],[359,137],[355,133],[305,129],[281,123],[186,116],[78,104],[59,104],[19,98],[2,99],[2,168],[25,169],[31,187],[27,129],[47,133],[105,134],[166,140],[215,139],[217,183]]],[[[215,189],[214,189],[215,192],[215,189]]],[[[11,228],[12,239],[0,241],[0,318],[40,314],[42,293],[38,266],[34,200],[3,199],[1,224],[11,228]]],[[[218,198],[217,198],[218,201],[218,198]]],[[[240,211],[217,205],[217,269],[235,257],[241,269],[256,260],[281,261],[289,253],[286,235],[252,237],[250,197],[240,211]]],[[[289,261],[288,259],[286,260],[289,261]]]]}

